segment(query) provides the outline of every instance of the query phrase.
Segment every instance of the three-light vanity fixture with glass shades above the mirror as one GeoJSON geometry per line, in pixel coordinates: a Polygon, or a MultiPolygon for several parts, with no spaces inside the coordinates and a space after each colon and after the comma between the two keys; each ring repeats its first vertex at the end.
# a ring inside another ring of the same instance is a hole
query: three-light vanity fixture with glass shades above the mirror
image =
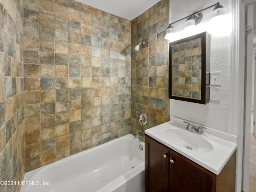
{"type": "Polygon", "coordinates": [[[172,24],[176,23],[176,22],[179,22],[183,19],[186,19],[186,24],[185,24],[185,29],[184,30],[191,30],[191,28],[194,28],[197,24],[199,24],[203,18],[203,14],[202,14],[202,11],[208,9],[208,8],[211,8],[211,7],[214,7],[214,9],[212,10],[212,19],[213,18],[216,18],[220,15],[224,15],[225,12],[224,12],[224,8],[222,5],[220,5],[220,3],[216,3],[216,4],[213,4],[211,6],[208,6],[200,11],[197,11],[197,12],[194,12],[193,14],[190,14],[182,19],[179,19],[175,22],[172,22],[169,24],[167,30],[166,30],[166,35],[165,35],[165,39],[167,40],[171,40],[172,38],[172,35],[174,35],[174,27],[172,26],[172,24]]]}

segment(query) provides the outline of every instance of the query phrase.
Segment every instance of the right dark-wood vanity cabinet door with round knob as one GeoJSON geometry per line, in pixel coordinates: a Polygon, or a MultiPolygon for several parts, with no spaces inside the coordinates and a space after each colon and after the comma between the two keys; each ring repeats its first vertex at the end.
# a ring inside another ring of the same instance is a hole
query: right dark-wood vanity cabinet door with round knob
{"type": "Polygon", "coordinates": [[[215,192],[216,175],[188,158],[170,151],[171,192],[215,192]]]}

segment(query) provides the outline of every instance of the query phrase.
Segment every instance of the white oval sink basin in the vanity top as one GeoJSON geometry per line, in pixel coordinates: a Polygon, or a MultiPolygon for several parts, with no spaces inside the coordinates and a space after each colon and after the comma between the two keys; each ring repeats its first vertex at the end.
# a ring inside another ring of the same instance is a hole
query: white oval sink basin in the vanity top
{"type": "Polygon", "coordinates": [[[172,140],[175,144],[183,146],[188,150],[198,152],[210,152],[213,148],[210,142],[202,136],[192,133],[188,130],[179,128],[167,128],[163,130],[166,138],[172,140]]]}

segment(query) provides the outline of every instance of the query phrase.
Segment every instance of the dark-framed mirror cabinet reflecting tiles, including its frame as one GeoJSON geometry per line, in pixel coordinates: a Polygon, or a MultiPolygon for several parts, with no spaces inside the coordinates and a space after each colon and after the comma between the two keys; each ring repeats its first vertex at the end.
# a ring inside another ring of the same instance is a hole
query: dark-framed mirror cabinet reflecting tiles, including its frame
{"type": "Polygon", "coordinates": [[[206,104],[210,96],[210,34],[169,43],[169,98],[206,104]]]}

